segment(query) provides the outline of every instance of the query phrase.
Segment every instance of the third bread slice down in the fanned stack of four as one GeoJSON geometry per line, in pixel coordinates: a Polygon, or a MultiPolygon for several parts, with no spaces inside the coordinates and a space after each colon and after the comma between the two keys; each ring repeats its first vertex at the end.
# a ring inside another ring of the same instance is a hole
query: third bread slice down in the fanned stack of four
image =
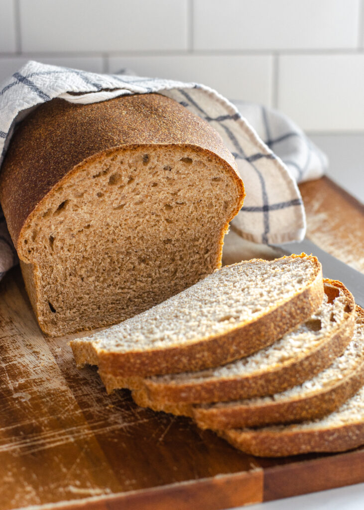
{"type": "Polygon", "coordinates": [[[313,420],[335,411],[363,384],[364,313],[357,308],[351,342],[315,377],[271,396],[192,406],[190,415],[199,427],[215,430],[313,420]]]}

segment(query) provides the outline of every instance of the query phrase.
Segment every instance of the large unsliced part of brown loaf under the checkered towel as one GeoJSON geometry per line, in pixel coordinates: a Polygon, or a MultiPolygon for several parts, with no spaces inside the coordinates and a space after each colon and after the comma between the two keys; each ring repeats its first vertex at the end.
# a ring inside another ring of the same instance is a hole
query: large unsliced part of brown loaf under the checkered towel
{"type": "Polygon", "coordinates": [[[243,198],[220,135],[159,94],[39,106],[0,175],[25,286],[49,335],[118,323],[212,273],[243,198]]]}

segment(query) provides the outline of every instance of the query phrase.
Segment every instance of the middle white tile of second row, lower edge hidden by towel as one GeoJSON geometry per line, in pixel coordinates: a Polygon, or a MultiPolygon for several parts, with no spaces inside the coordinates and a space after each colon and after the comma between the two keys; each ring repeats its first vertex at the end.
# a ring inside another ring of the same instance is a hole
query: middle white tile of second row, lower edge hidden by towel
{"type": "Polygon", "coordinates": [[[141,76],[203,83],[229,99],[271,103],[272,57],[268,55],[110,58],[111,72],[123,68],[141,76]]]}

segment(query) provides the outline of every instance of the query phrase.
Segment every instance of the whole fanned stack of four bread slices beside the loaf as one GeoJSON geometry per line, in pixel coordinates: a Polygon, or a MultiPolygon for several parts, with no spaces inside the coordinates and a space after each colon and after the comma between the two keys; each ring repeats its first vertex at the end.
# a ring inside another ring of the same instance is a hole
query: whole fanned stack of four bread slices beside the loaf
{"type": "Polygon", "coordinates": [[[253,455],[364,444],[364,311],[304,253],[225,266],[71,347],[108,392],[253,455]]]}

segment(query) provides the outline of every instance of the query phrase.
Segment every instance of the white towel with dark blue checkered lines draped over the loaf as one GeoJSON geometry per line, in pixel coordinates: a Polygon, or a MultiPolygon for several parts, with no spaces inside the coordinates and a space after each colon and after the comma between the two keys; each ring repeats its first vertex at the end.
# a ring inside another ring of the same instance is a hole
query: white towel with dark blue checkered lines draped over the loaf
{"type": "MultiPolygon", "coordinates": [[[[235,156],[246,190],[244,207],[233,219],[242,237],[258,243],[303,238],[305,214],[297,182],[322,175],[326,157],[280,113],[245,103],[238,110],[205,85],[123,72],[95,74],[30,61],[0,85],[0,164],[17,123],[45,101],[59,97],[86,104],[150,92],[171,97],[209,122],[235,156]]],[[[0,277],[16,262],[1,214],[0,277]]]]}

